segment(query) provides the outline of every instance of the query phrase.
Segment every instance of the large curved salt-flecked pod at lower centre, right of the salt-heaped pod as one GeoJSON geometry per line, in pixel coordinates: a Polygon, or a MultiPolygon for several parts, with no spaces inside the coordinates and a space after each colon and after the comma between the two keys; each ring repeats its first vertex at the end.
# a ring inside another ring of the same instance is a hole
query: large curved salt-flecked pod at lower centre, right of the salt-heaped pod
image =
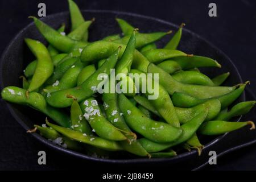
{"type": "Polygon", "coordinates": [[[180,128],[147,118],[123,94],[118,95],[118,105],[127,125],[154,142],[171,142],[179,138],[182,133],[180,128]]]}

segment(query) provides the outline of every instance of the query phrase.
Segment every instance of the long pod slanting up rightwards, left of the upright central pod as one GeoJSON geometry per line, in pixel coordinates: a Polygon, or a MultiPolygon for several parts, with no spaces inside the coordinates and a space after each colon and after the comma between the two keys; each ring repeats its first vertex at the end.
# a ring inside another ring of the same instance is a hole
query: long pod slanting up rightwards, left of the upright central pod
{"type": "Polygon", "coordinates": [[[104,65],[102,65],[80,86],[51,93],[51,97],[47,97],[48,104],[53,107],[68,107],[71,106],[73,102],[72,98],[67,98],[68,95],[75,97],[77,101],[80,102],[96,93],[97,85],[101,82],[101,80],[97,80],[98,75],[100,73],[106,73],[108,76],[110,75],[110,69],[114,68],[115,64],[117,63],[120,49],[121,47],[114,51],[112,56],[106,60],[104,65]]]}

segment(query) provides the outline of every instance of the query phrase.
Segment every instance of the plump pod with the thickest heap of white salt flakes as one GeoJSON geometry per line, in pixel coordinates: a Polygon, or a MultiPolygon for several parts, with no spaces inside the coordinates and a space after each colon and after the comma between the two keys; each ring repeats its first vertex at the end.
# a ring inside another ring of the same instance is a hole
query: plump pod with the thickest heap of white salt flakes
{"type": "Polygon", "coordinates": [[[85,119],[89,122],[95,133],[108,140],[126,140],[125,135],[117,130],[102,114],[98,102],[94,98],[87,98],[80,103],[85,119]]]}

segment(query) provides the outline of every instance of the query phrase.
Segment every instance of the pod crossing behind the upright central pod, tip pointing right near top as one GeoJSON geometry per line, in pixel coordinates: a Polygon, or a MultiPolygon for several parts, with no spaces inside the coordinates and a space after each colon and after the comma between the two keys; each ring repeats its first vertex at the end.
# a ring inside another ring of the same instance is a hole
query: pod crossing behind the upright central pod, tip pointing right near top
{"type": "MultiPolygon", "coordinates": [[[[136,35],[136,48],[142,48],[147,44],[154,43],[159,39],[162,39],[164,36],[171,34],[171,31],[168,32],[153,32],[148,34],[139,33],[136,35]]],[[[114,40],[115,43],[127,44],[130,39],[130,35],[126,35],[121,39],[114,40]]]]}

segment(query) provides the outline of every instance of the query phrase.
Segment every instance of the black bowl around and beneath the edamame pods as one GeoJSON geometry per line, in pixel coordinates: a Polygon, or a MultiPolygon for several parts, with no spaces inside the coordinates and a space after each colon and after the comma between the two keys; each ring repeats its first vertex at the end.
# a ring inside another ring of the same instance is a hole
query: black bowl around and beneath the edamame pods
{"type": "MultiPolygon", "coordinates": [[[[152,32],[152,31],[176,31],[178,26],[175,24],[166,22],[164,20],[151,18],[148,16],[142,16],[131,13],[121,13],[116,11],[97,11],[97,10],[86,10],[82,11],[82,14],[86,19],[96,18],[96,22],[92,24],[89,30],[89,41],[99,40],[105,36],[120,33],[118,24],[115,22],[115,18],[123,18],[128,22],[133,24],[135,27],[138,27],[141,32],[152,32]]],[[[44,22],[57,28],[61,23],[67,25],[67,30],[69,29],[69,13],[59,13],[54,15],[49,15],[46,18],[42,19],[44,22]]],[[[27,46],[24,44],[24,38],[32,38],[40,40],[41,42],[46,43],[42,35],[36,29],[34,23],[28,24],[27,27],[23,28],[22,31],[15,36],[11,41],[9,46],[3,52],[1,57],[1,88],[5,86],[15,85],[22,86],[19,76],[23,75],[23,69],[26,65],[32,61],[33,56],[28,50],[27,46]]],[[[170,36],[166,36],[164,39],[158,42],[158,47],[163,47],[164,44],[168,42],[170,36]]],[[[203,72],[207,73],[209,77],[220,75],[221,73],[230,72],[230,77],[225,81],[225,85],[235,85],[242,82],[241,76],[237,71],[237,68],[220,49],[213,46],[207,40],[201,38],[199,35],[186,30],[183,30],[183,36],[180,42],[179,49],[187,53],[193,53],[194,55],[208,56],[216,59],[218,63],[222,65],[222,68],[206,68],[202,69],[203,72]]],[[[239,102],[245,101],[245,94],[238,99],[239,102]]],[[[38,111],[35,111],[27,106],[21,106],[16,104],[7,103],[11,114],[14,118],[24,127],[25,130],[31,129],[35,123],[40,124],[44,122],[45,115],[40,114],[38,111]]],[[[145,158],[131,158],[130,155],[123,156],[122,159],[99,159],[94,158],[89,155],[85,155],[76,151],[71,151],[66,148],[57,146],[52,142],[49,142],[47,139],[41,137],[39,134],[32,134],[40,142],[46,144],[47,146],[57,150],[70,154],[72,156],[79,157],[81,159],[94,160],[98,162],[106,163],[119,163],[119,164],[133,164],[133,163],[158,163],[164,162],[168,164],[179,163],[184,160],[192,160],[195,158],[203,158],[203,156],[198,157],[197,152],[192,150],[191,152],[184,152],[180,155],[175,156],[170,159],[145,159],[145,158]]],[[[205,140],[204,150],[212,146],[218,147],[218,141],[223,139],[225,135],[222,135],[217,138],[208,138],[205,140]]],[[[204,151],[203,151],[204,152],[204,151]]]]}

